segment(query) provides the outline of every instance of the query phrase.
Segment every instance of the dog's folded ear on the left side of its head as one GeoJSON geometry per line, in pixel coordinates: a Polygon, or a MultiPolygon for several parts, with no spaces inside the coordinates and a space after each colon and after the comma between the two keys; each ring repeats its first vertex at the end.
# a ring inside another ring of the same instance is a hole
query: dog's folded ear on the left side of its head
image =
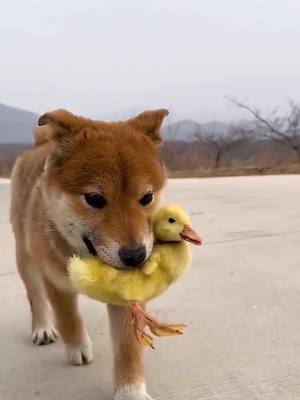
{"type": "Polygon", "coordinates": [[[67,141],[88,124],[88,120],[67,110],[55,110],[41,115],[34,130],[36,144],[51,140],[67,141]]]}

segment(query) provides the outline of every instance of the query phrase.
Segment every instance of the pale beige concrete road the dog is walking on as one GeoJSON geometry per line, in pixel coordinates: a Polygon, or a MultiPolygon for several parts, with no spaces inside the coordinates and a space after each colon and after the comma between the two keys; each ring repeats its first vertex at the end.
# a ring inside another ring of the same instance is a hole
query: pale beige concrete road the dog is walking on
{"type": "MultiPolygon", "coordinates": [[[[174,180],[205,239],[192,269],[150,309],[186,322],[147,351],[156,400],[300,399],[300,176],[174,180]]],[[[59,341],[35,347],[15,272],[9,184],[0,184],[0,399],[112,400],[105,307],[82,299],[96,358],[66,364],[59,341]]]]}

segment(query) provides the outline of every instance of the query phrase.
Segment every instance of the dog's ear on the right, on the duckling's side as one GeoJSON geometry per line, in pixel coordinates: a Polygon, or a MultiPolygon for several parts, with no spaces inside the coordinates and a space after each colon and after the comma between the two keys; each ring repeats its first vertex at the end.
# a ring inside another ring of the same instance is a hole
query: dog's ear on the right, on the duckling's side
{"type": "Polygon", "coordinates": [[[137,130],[142,131],[155,144],[161,142],[160,128],[164,118],[169,114],[169,111],[161,108],[159,110],[144,111],[135,118],[129,120],[130,124],[137,130]]]}

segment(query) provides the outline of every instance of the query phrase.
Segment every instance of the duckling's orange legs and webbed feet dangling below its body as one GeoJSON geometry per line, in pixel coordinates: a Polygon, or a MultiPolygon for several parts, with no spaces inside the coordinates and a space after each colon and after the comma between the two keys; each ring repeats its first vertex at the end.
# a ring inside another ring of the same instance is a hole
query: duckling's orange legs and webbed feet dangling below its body
{"type": "Polygon", "coordinates": [[[184,324],[162,324],[149,315],[137,301],[129,301],[128,306],[132,312],[132,322],[135,328],[137,340],[144,345],[153,348],[153,338],[144,329],[149,327],[156,336],[182,335],[184,324]]]}

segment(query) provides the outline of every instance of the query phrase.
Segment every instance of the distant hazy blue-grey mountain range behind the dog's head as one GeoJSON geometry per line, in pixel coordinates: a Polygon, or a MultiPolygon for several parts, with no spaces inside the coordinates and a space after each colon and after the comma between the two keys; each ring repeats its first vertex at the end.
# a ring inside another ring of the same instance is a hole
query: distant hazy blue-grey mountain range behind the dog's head
{"type": "MultiPolygon", "coordinates": [[[[111,120],[126,118],[126,112],[111,114],[111,120]],[[120,117],[122,115],[122,117],[120,117]],[[115,118],[114,118],[115,117],[115,118]]],[[[38,114],[0,103],[0,143],[31,143],[32,128],[38,114]]],[[[192,120],[181,120],[167,124],[162,129],[164,140],[191,142],[195,133],[225,134],[229,125],[219,121],[201,124],[192,120]]]]}

